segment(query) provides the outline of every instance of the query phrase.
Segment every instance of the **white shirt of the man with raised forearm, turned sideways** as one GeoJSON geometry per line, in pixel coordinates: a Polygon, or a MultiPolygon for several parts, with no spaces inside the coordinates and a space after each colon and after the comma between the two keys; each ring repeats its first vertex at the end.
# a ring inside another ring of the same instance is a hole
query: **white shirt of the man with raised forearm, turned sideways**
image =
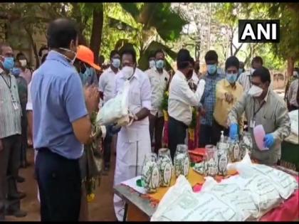
{"type": "Polygon", "coordinates": [[[201,79],[196,92],[192,92],[184,74],[177,70],[169,87],[169,116],[189,126],[192,121],[192,107],[200,105],[205,85],[206,82],[201,79]]]}

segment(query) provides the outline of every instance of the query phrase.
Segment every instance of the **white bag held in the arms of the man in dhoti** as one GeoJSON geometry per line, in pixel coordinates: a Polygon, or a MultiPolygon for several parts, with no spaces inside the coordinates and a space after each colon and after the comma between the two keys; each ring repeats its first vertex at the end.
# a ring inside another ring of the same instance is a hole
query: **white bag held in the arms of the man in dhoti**
{"type": "Polygon", "coordinates": [[[122,91],[116,97],[108,100],[97,114],[96,122],[100,125],[111,124],[129,114],[130,81],[126,80],[122,91]]]}

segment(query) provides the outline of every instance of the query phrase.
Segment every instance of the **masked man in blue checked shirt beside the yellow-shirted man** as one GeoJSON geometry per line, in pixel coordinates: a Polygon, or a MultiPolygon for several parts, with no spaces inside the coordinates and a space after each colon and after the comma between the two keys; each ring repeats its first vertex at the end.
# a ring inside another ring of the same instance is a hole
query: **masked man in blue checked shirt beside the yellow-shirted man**
{"type": "MultiPolygon", "coordinates": [[[[216,82],[225,78],[224,73],[218,66],[218,55],[215,50],[209,50],[204,56],[206,60],[207,73],[203,76],[206,86],[201,98],[201,126],[199,132],[199,146],[204,147],[212,142],[213,112],[216,102],[216,82]]],[[[215,143],[216,144],[216,143],[215,143]]]]}

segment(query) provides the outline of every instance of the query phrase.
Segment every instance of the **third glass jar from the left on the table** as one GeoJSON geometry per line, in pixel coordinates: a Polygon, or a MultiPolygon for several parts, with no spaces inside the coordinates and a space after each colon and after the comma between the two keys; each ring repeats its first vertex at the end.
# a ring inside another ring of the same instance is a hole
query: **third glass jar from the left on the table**
{"type": "Polygon", "coordinates": [[[186,178],[189,174],[190,159],[188,147],[184,144],[177,145],[177,151],[174,155],[174,173],[175,176],[184,175],[186,178]]]}

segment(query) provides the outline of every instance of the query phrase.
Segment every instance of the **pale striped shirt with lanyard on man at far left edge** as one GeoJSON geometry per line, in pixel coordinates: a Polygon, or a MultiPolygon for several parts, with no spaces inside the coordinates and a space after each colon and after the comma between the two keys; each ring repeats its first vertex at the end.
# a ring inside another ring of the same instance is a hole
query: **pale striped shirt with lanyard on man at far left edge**
{"type": "Polygon", "coordinates": [[[6,75],[0,69],[0,76],[0,139],[3,139],[21,134],[21,105],[14,75],[6,75]],[[18,106],[17,110],[14,109],[13,100],[18,106]]]}

